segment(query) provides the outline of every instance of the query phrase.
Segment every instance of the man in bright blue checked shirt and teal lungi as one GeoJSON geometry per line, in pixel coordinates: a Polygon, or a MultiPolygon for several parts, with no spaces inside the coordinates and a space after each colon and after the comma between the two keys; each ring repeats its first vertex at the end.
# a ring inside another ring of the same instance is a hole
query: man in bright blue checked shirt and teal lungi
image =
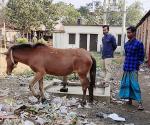
{"type": "Polygon", "coordinates": [[[130,26],[127,28],[127,36],[129,40],[124,46],[124,74],[121,80],[119,95],[122,99],[129,99],[128,104],[130,105],[132,100],[136,100],[139,103],[138,109],[143,110],[138,70],[144,61],[144,46],[142,42],[136,39],[136,27],[130,26]]]}

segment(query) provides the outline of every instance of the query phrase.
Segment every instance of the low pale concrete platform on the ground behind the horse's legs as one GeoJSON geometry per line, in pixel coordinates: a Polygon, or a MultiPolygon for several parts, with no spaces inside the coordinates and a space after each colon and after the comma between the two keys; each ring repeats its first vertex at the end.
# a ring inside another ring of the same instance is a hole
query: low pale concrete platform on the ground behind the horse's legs
{"type": "MultiPolygon", "coordinates": [[[[82,87],[81,86],[67,86],[68,92],[60,92],[62,86],[49,86],[46,88],[46,92],[53,93],[58,96],[67,96],[67,97],[78,97],[81,98],[82,87]]],[[[88,95],[88,91],[87,91],[88,95]]],[[[94,90],[94,99],[102,102],[110,103],[110,87],[106,88],[96,88],[94,90]]]]}

